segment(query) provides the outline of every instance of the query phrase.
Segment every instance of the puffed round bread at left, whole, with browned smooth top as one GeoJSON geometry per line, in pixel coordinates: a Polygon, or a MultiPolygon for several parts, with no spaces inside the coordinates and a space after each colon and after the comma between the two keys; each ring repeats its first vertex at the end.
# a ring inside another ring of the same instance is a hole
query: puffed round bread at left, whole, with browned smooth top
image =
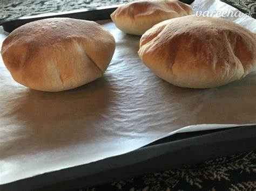
{"type": "Polygon", "coordinates": [[[18,83],[62,91],[102,76],[115,46],[112,34],[95,22],[50,18],[12,31],[3,42],[2,57],[18,83]]]}

